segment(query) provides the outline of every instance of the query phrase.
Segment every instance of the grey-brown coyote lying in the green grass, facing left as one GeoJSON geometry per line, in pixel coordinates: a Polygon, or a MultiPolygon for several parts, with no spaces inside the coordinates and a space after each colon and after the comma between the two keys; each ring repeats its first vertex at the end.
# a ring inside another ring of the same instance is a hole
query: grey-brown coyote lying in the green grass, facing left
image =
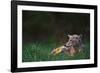
{"type": "Polygon", "coordinates": [[[80,52],[84,45],[82,43],[82,35],[68,35],[69,40],[68,42],[58,48],[55,48],[51,54],[57,55],[61,52],[68,54],[69,56],[74,56],[76,53],[80,52]]]}

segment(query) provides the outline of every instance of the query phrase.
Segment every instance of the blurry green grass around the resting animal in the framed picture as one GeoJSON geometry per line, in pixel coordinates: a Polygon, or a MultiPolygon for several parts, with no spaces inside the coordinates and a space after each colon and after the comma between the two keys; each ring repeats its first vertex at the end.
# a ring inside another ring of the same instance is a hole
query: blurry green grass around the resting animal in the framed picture
{"type": "Polygon", "coordinates": [[[49,55],[53,48],[62,45],[57,44],[55,41],[48,40],[44,42],[31,42],[23,44],[22,49],[22,62],[39,62],[39,61],[57,61],[57,60],[79,60],[90,58],[90,43],[85,42],[85,48],[80,53],[71,57],[64,53],[56,56],[49,55]]]}

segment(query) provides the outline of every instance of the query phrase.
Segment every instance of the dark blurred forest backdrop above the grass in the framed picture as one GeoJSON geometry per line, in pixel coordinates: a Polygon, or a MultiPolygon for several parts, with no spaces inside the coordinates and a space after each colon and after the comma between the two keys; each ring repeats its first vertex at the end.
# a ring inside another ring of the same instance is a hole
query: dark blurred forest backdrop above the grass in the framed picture
{"type": "Polygon", "coordinates": [[[87,13],[64,13],[23,11],[23,42],[43,41],[53,37],[65,43],[68,34],[82,34],[90,38],[90,15],[87,13]]]}

